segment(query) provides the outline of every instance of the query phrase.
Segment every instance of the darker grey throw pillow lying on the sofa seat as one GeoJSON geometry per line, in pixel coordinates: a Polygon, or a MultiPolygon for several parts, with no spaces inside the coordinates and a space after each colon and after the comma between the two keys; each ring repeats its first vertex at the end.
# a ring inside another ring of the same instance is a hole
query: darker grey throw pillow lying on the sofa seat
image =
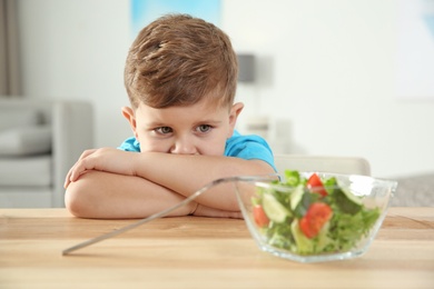
{"type": "Polygon", "coordinates": [[[19,127],[0,131],[0,156],[29,156],[51,150],[51,126],[19,127]]]}

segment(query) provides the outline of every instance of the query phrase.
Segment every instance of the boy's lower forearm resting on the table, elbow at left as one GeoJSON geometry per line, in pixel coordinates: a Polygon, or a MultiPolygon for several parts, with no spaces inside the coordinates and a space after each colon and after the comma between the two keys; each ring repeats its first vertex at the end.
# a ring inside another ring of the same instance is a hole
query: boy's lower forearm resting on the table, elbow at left
{"type": "MultiPolygon", "coordinates": [[[[66,207],[81,218],[145,218],[172,207],[185,197],[139,177],[88,171],[70,183],[66,207]]],[[[186,216],[196,209],[189,203],[169,216],[186,216]]]]}

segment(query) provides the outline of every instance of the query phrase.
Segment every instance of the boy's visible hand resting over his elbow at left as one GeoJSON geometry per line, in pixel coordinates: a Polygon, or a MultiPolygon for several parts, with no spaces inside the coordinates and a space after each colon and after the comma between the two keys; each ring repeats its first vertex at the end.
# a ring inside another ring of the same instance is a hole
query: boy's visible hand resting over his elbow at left
{"type": "Polygon", "coordinates": [[[135,176],[134,162],[136,159],[137,152],[128,152],[114,148],[86,150],[69,170],[63,187],[67,188],[69,183],[78,180],[88,170],[135,176]]]}

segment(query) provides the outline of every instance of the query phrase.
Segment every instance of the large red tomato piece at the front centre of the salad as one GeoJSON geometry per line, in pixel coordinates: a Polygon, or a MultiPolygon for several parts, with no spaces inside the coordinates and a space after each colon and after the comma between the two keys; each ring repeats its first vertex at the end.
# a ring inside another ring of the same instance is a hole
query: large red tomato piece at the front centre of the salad
{"type": "Polygon", "coordinates": [[[324,202],[314,202],[299,220],[302,232],[309,239],[316,237],[324,225],[332,218],[332,208],[324,202]]]}

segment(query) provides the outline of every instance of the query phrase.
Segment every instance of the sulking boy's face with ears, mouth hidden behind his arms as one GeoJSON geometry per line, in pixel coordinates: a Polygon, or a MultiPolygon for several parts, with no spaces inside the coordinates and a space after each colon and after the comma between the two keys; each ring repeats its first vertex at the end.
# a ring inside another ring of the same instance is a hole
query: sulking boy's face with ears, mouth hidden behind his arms
{"type": "Polygon", "coordinates": [[[124,108],[141,151],[223,156],[243,103],[216,107],[205,100],[187,107],[124,108]]]}

